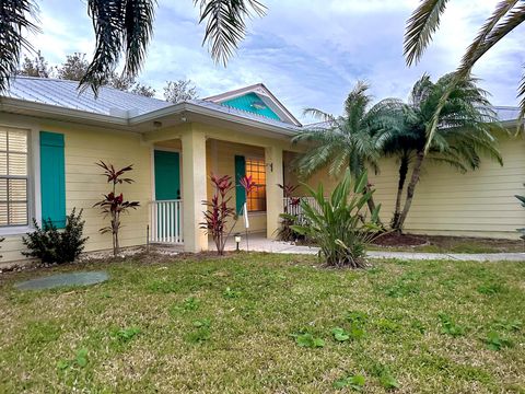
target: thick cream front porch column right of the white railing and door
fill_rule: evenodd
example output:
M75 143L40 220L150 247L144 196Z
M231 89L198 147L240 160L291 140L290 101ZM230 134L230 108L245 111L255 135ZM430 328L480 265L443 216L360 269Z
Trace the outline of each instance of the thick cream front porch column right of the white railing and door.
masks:
M206 136L189 129L182 136L183 142L183 218L184 251L208 251L208 235L200 224L205 217L202 201L207 199Z

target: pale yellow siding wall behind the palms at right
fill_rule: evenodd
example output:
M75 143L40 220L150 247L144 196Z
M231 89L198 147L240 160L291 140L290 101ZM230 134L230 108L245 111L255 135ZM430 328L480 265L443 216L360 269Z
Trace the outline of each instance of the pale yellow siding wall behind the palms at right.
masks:
M415 198L405 225L406 232L434 235L462 235L517 239L516 229L525 225L525 209L514 197L525 194L525 141L522 137L503 137L500 150L504 165L482 157L481 166L462 174L446 164L428 161L416 187ZM290 163L292 154L285 155ZM394 159L382 160L381 173L370 173L375 188L375 202L382 204L381 218L388 224L397 194L398 164ZM298 184L298 177L288 174L287 182ZM407 184L411 173L408 175ZM329 195L337 179L323 170L307 183L317 187L323 183ZM306 192L300 188L296 196ZM406 187L404 198L406 196Z

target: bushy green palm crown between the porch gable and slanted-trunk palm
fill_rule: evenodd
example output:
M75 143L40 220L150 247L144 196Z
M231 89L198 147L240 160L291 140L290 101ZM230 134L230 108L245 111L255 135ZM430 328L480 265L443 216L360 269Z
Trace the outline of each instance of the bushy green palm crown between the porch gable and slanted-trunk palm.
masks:
M382 113L383 106L370 107L368 90L366 83L357 83L345 102L343 116L336 117L315 108L305 109L305 114L313 115L322 123L292 139L293 143L313 144L294 163L302 177L308 177L324 167L328 167L331 176L349 169L353 179L358 179L366 167L378 172L378 160L383 143L388 138L387 125L390 119ZM370 188L371 185L368 185L366 192ZM371 212L378 209L373 198L368 204Z

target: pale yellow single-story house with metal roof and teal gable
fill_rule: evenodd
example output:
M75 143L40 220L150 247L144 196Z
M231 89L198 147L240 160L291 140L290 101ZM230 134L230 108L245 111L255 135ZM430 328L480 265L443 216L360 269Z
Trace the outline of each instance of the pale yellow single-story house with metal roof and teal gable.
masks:
M122 246L178 243L188 252L208 248L202 200L211 194L208 176L248 174L259 187L249 196L250 231L275 235L283 210L283 182L298 182L290 160L304 149L290 143L303 126L264 85L171 104L112 88L79 94L78 83L18 77L0 97L0 235L2 262L22 258L21 236L32 218L63 225L72 208L83 209L88 251L106 250L100 234L107 219L93 204L108 185L95 162L133 164L135 183L122 185L141 207L122 218ZM509 127L514 108L498 109ZM483 162L477 172L458 174L429 166L419 185L407 231L451 235L516 237L525 215L513 195L525 182L522 139L503 138L505 166ZM390 165L392 164L392 165ZM385 220L393 210L395 163L372 176ZM432 179L432 182L425 181ZM308 182L334 184L326 172ZM304 192L300 192L304 193ZM240 208L244 195L235 194ZM241 221L237 223L241 230ZM149 229L149 230L148 230Z

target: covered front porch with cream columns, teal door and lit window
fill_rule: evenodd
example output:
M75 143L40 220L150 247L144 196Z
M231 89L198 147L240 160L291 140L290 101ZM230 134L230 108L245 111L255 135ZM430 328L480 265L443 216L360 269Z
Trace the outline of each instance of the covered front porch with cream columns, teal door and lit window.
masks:
M152 200L150 201L149 242L178 245L186 252L210 247L201 229L202 201L214 190L211 174L230 175L236 185L230 206L240 212L244 204L238 179L253 176L256 190L248 196L248 232L266 240L275 239L279 216L287 201L278 186L287 182L289 142L232 130L189 124L172 130L159 130L145 138L151 144ZM243 233L245 220L231 219L232 234Z

